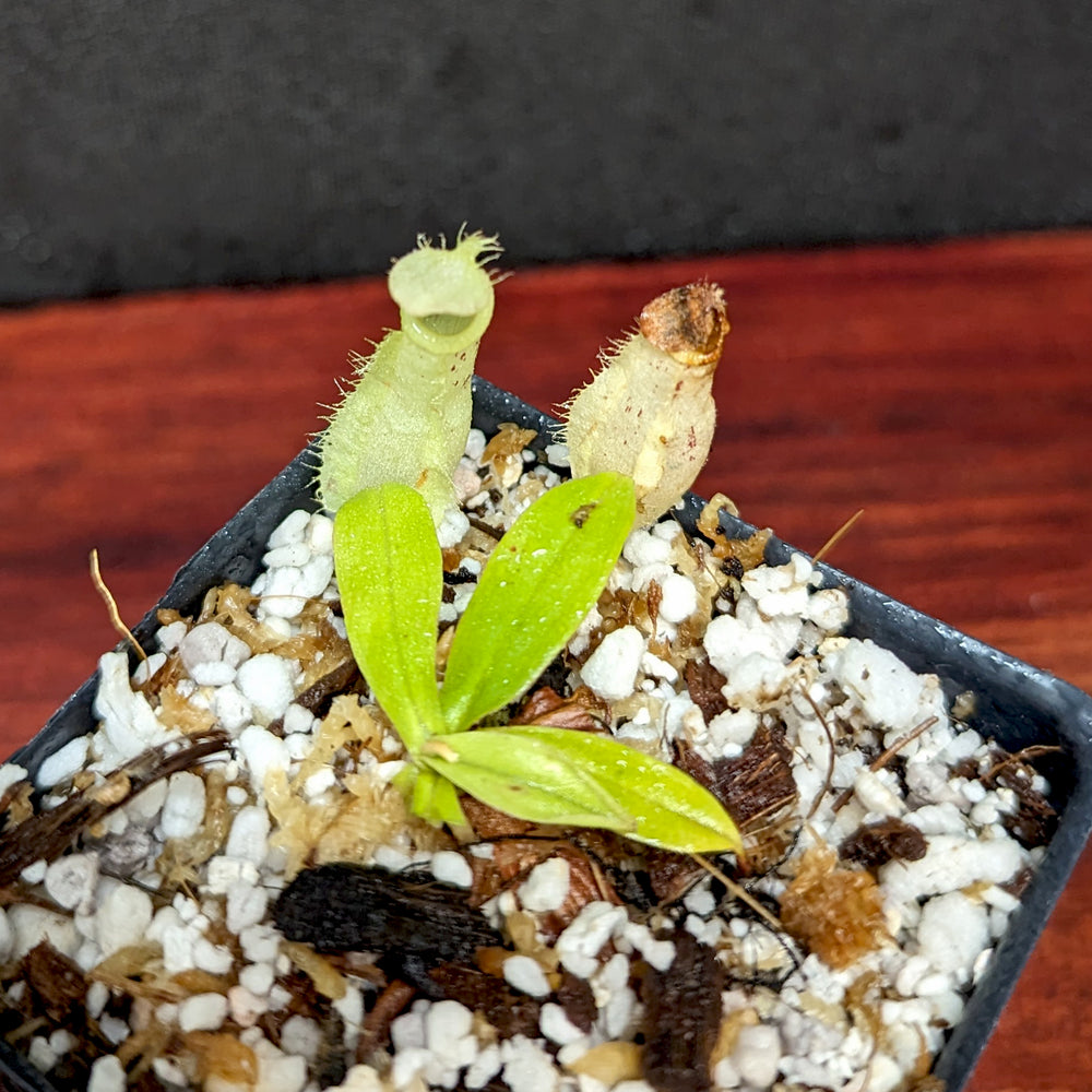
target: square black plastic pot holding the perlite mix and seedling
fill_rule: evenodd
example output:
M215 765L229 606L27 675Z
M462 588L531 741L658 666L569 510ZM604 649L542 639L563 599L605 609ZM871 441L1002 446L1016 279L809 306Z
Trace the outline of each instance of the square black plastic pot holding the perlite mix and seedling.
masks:
M482 380L475 380L474 424L487 434L501 422L514 422L539 434L546 443L555 422L532 406ZM205 592L223 583L249 584L258 575L266 539L288 512L317 509L311 492L313 451L305 449L226 526L178 571L167 593L134 632L142 643L154 634L155 612L174 607L193 613ZM692 530L702 502L692 495L681 522ZM722 515L734 537L753 532L750 524ZM780 565L792 548L770 542L767 560ZM1045 672L1013 660L966 637L845 573L820 565L828 586L850 595L847 633L871 638L890 649L915 672L940 677L949 699L964 690L977 696L972 726L993 736L1010 751L1033 744L1060 745L1063 751L1040 763L1052 786L1051 803L1059 812L1057 830L1034 879L998 943L989 969L968 1001L963 1020L952 1032L934 1072L948 1092L963 1088L975 1059L993 1031L1047 917L1065 887L1092 829L1092 698ZM63 744L94 729L92 703L97 680L88 679L54 714L49 723L12 760L32 774L43 759ZM0 1079L10 1092L55 1092L54 1085L7 1043L0 1042Z

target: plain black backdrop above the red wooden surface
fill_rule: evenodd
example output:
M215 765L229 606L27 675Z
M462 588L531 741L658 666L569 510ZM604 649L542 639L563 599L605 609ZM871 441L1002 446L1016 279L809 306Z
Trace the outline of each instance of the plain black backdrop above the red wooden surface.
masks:
M0 4L0 302L1092 222L1092 4Z

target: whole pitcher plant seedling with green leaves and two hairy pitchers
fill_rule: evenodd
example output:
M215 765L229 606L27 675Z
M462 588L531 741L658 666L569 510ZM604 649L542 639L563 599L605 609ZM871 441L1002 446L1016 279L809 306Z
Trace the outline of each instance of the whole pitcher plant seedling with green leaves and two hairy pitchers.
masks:
M691 285L650 304L642 333L574 401L569 439L578 476L548 490L497 544L438 686L442 565L434 525L455 499L451 477L470 430L471 371L492 314L492 282L482 264L499 247L478 234L461 235L452 250L419 241L388 281L402 329L360 361L360 379L321 441L318 478L319 499L335 513L349 642L408 752L402 787L413 810L463 824L462 791L535 822L606 828L681 852L740 850L715 797L678 768L609 736L548 724L467 731L526 692L595 604L634 521L650 522L693 479L708 452L708 377L726 328L720 289ZM630 376L638 365L644 370ZM669 389L680 368L680 387L697 392L687 407ZM670 403L678 419L657 405L634 448L627 436L638 395ZM682 422L690 403L700 413ZM601 418L591 429L589 414ZM621 463L596 465L610 448L621 450Z

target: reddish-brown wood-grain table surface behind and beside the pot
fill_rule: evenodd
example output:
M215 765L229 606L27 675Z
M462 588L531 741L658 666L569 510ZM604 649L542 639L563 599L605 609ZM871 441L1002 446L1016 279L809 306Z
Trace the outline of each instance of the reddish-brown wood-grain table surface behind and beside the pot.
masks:
M988 643L1092 689L1092 233L525 270L478 371L542 408L666 287L725 288L698 489ZM319 427L382 280L0 312L0 751ZM1092 856L973 1092L1092 1088Z

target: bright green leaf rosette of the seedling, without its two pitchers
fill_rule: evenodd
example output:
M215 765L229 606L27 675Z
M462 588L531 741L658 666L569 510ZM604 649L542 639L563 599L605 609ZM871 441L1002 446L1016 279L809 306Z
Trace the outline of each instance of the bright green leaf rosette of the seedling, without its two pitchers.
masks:
M590 732L475 728L525 693L575 632L633 512L633 484L622 474L574 479L539 497L490 555L437 686L442 562L424 500L392 483L339 510L345 627L405 744L412 764L403 787L418 815L465 824L461 790L533 822L604 828L684 853L741 850L717 799L677 767Z

